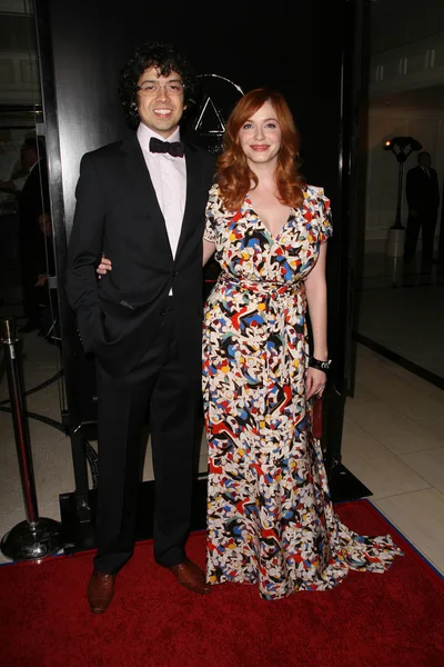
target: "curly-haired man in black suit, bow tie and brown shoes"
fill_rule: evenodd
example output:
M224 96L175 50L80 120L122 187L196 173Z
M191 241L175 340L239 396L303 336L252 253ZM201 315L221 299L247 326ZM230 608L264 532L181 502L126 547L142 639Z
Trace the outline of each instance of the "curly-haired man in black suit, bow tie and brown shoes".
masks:
M143 44L122 70L134 136L83 156L69 246L68 298L97 357L99 482L91 610L110 604L134 548L141 431L155 477L154 555L208 593L185 555L201 397L202 235L214 160L180 141L191 70L170 46ZM100 281L102 251L112 261Z

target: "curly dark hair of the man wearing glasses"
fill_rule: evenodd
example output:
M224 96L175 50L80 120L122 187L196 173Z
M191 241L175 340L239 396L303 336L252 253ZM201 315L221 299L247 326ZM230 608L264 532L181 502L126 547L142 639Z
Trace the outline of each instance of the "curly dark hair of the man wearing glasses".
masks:
M140 118L138 112L138 82L147 69L159 68L162 77L178 72L184 84L184 103L192 102L195 77L192 67L180 51L164 42L145 42L141 44L127 61L120 72L119 94L132 128L137 128Z

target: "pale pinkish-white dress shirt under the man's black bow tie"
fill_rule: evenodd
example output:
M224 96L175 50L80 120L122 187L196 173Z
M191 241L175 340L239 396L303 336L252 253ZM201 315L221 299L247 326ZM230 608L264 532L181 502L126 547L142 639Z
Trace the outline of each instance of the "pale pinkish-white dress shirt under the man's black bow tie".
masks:
M185 211L185 157L173 158L170 153L152 153L150 151L151 137L165 141L164 137L157 135L157 132L150 130L145 125L140 123L138 128L139 143L142 148L155 196L165 220L167 233L174 258L182 229L183 213ZM168 141L180 141L179 128L168 138Z

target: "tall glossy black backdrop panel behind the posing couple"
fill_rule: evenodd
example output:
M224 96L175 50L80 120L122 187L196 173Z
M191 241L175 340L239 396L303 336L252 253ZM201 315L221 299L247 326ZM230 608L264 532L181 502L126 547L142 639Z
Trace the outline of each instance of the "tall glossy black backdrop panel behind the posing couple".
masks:
M343 394L344 321L349 317L349 217L343 207L342 60L353 39L351 3L346 0L269 4L190 3L107 0L36 0L43 72L53 81L43 90L47 111L57 111L48 128L57 133L60 152L49 156L52 189L62 187L54 219L56 245L65 245L74 211L74 188L81 156L129 130L118 99L119 70L135 46L145 40L171 41L193 61L199 73L215 73L244 92L269 86L280 90L294 113L302 139L302 171L309 182L325 188L332 199L335 235L329 243L330 348L340 360L333 381ZM191 4L192 6L192 4ZM194 7L194 6L192 6ZM334 31L332 26L335 26ZM51 53L52 63L49 63ZM349 57L353 58L349 48ZM44 79L44 77L43 77ZM50 113L47 113L51 118ZM53 116L56 118L56 116ZM350 126L350 120L347 121ZM56 147L57 141L52 141ZM342 210L343 209L343 210ZM64 251L58 252L60 281ZM70 411L74 424L94 419L91 364L83 360L60 290L63 351ZM340 308L339 305L342 305ZM341 321L339 317L341 313ZM336 428L341 439L342 416Z

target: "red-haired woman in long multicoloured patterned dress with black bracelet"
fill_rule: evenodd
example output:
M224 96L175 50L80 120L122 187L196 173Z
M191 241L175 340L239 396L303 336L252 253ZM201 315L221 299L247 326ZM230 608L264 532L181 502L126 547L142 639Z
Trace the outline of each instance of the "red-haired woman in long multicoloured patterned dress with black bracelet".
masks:
M383 573L401 551L390 536L362 537L340 522L311 432L310 401L326 380L332 226L323 189L297 175L282 96L244 96L224 148L204 232L204 262L215 251L222 269L203 329L206 577L259 584L261 597L278 599L332 588L349 569Z

